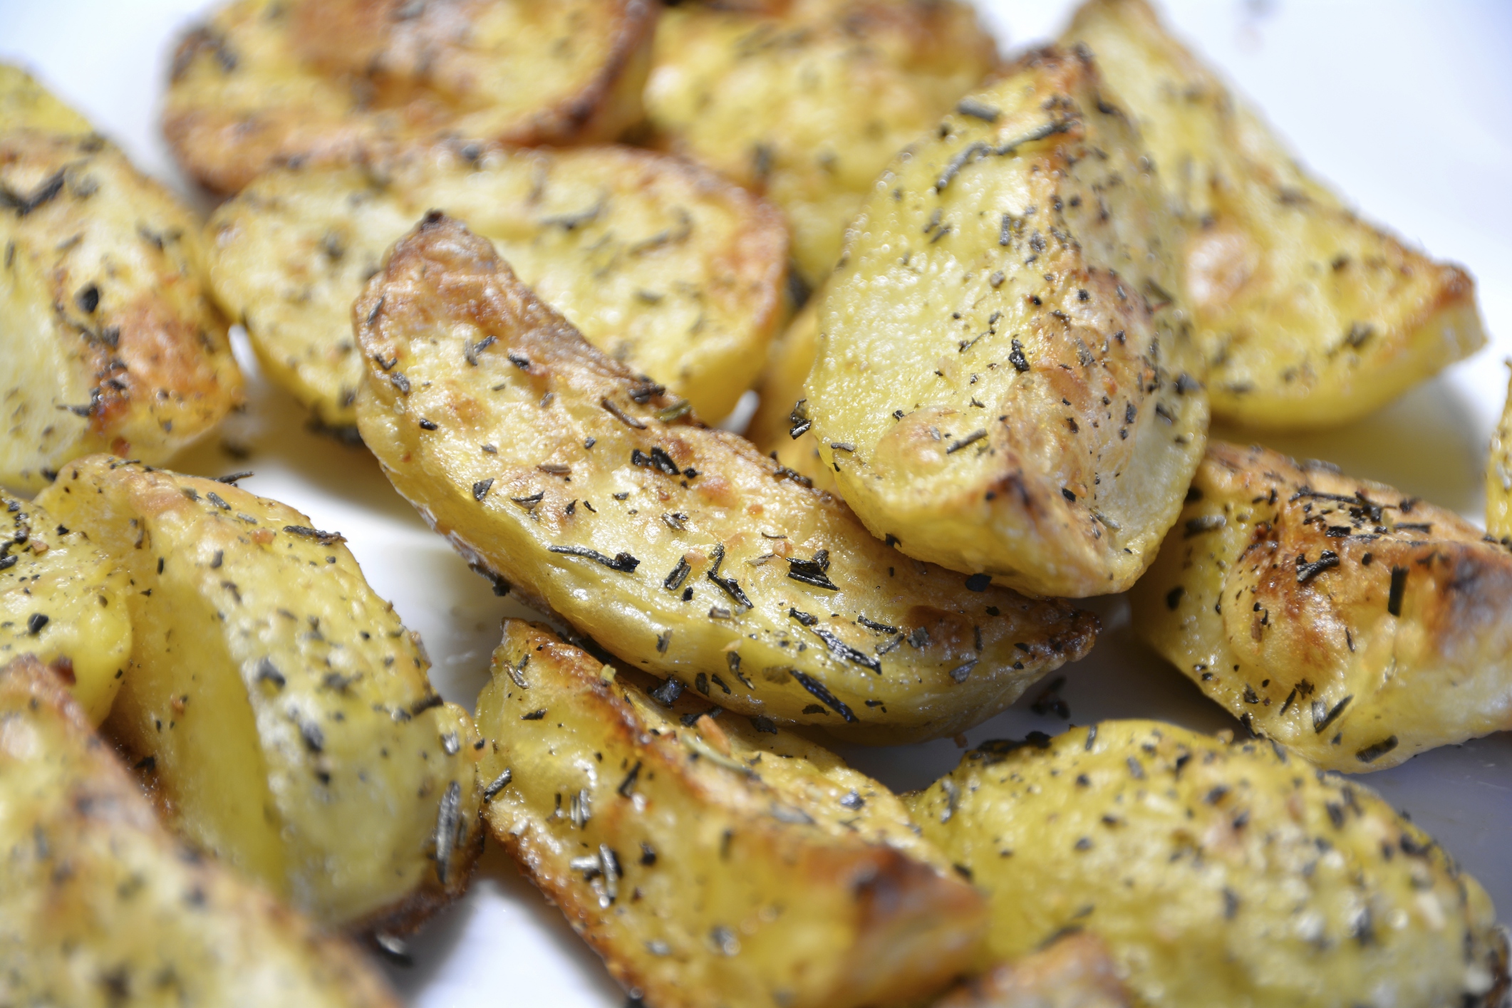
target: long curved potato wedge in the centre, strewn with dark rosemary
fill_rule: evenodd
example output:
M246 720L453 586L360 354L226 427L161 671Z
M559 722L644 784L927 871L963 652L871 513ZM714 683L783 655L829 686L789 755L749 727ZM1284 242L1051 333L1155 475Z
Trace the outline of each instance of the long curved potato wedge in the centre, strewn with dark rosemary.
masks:
M442 215L354 307L363 441L470 562L635 668L857 741L954 734L1096 618L915 564L590 346ZM833 558L833 559L832 559Z

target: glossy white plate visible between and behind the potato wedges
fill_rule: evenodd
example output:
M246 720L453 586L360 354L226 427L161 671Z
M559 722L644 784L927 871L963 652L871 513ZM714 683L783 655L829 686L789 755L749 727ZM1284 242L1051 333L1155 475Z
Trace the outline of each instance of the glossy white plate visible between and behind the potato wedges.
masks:
M194 0L0 0L0 59L30 65L150 174L184 190L157 133L168 56L206 5ZM1012 45L1051 38L1070 5L981 5ZM1485 446L1506 390L1512 352L1512 5L1169 0L1175 26L1219 65L1364 215L1476 275L1494 345L1377 416L1326 437L1270 444L1326 458L1358 476L1480 520ZM1495 339L1500 334L1501 339ZM239 348L245 364L245 342ZM248 416L227 438L251 447L243 482L346 533L380 594L425 635L432 677L472 704L505 614L446 544L431 535L366 455L307 434L304 411L251 379ZM221 475L242 468L219 444L175 465ZM1081 724L1166 718L1234 727L1181 674L1134 641L1120 598L1095 606L1107 630L1093 654L1066 669L1064 697ZM1013 709L969 733L972 744L1052 718ZM919 787L959 759L953 742L845 756L892 787ZM1506 913L1512 908L1512 736L1427 753L1365 783L1453 851ZM472 892L413 943L414 966L393 969L414 1005L546 1003L617 1008L624 996L561 916L491 849Z

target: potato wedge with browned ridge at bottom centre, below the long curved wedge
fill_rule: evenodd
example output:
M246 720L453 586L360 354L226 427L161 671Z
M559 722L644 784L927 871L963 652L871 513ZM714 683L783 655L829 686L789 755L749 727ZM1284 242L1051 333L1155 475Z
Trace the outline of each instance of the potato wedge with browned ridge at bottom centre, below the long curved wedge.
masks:
M493 836L634 997L903 1005L972 961L981 896L881 784L634 676L511 620L478 700Z

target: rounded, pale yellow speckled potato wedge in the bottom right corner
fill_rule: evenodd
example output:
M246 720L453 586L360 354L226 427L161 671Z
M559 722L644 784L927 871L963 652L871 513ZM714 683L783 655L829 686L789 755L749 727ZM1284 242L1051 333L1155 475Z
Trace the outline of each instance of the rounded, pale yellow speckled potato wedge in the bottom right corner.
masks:
M910 802L995 955L1099 934L1148 1008L1500 1005L1485 890L1374 792L1170 724L992 742Z

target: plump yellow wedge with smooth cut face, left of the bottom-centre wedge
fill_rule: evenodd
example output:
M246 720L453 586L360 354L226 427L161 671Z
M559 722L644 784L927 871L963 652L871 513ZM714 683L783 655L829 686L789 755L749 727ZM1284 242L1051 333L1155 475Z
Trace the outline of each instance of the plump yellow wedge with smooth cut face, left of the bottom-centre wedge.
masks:
M106 727L180 833L324 923L402 929L461 893L482 839L472 722L339 535L107 456L39 503L132 577Z

